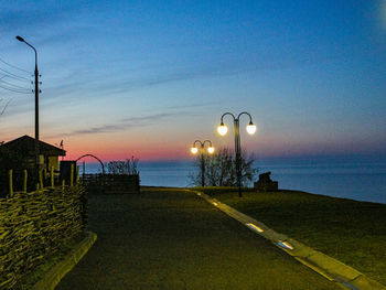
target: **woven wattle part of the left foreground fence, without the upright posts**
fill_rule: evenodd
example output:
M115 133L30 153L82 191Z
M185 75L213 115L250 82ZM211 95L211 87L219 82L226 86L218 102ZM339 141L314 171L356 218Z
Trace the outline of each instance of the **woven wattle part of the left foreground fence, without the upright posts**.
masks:
M64 249L86 224L81 184L0 198L0 289L19 289L47 255Z

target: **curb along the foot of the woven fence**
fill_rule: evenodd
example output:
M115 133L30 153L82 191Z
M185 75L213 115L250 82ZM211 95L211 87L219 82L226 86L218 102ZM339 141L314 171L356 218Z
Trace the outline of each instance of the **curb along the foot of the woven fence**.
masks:
M86 237L78 243L62 261L52 267L43 278L32 287L32 290L55 289L62 278L86 255L96 239L97 235L95 233L86 232Z

